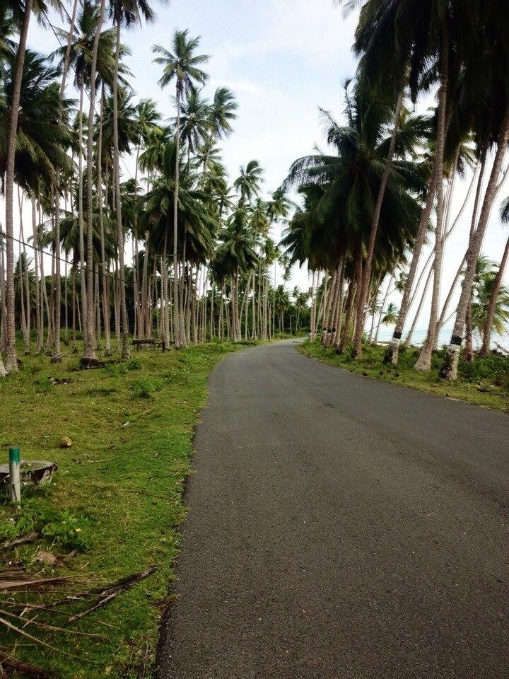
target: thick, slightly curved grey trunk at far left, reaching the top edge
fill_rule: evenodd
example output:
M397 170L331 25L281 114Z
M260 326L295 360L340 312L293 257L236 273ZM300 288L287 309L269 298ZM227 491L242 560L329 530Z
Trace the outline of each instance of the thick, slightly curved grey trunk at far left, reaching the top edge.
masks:
M25 50L32 14L33 0L25 1L25 11L16 52L16 64L14 66L13 89L11 98L11 113L9 115L7 129L7 152L6 152L6 362L5 369L8 373L18 370L18 357L16 356L16 326L14 311L14 159L16 156L16 141L18 137L18 113L21 94L21 80L23 79L23 66L25 65Z

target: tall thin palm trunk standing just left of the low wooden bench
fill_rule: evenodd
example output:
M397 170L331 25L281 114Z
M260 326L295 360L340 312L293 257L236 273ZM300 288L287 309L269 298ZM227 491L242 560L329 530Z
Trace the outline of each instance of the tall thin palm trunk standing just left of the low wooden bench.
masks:
M120 61L120 17L117 16L117 40L115 45L115 70L113 71L113 162L115 166L115 215L117 218L117 247L119 260L119 305L122 321L122 359L129 358L129 327L125 291L124 230L122 228L122 198L120 196L120 154L118 139L118 74Z

